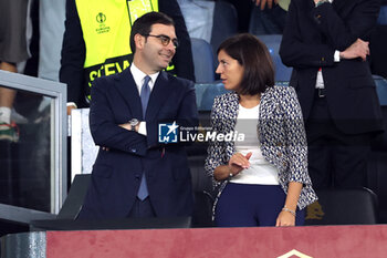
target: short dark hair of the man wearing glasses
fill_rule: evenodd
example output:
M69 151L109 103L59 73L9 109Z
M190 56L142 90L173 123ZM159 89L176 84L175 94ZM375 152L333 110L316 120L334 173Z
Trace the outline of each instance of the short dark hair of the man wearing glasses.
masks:
M135 35L147 35L150 33L153 24L175 25L174 20L163 12L148 12L138 18L132 25L130 49L132 53L136 52Z

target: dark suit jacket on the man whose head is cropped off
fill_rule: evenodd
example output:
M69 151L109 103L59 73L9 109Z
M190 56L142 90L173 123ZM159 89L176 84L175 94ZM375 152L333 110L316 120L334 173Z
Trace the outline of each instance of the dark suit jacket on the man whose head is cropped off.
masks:
M356 39L369 40L379 12L379 0L334 0L314 7L313 0L292 0L280 55L293 66L294 86L303 115L313 106L316 75L323 69L326 101L335 125L358 134L383 128L381 112L368 62L362 59L334 62Z

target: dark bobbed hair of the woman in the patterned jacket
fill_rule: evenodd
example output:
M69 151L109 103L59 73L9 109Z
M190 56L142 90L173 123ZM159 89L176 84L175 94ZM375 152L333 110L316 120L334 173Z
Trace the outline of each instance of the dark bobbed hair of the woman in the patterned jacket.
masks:
M239 94L255 95L274 85L274 65L269 50L257 37L242 33L223 41L217 53L223 50L243 66Z

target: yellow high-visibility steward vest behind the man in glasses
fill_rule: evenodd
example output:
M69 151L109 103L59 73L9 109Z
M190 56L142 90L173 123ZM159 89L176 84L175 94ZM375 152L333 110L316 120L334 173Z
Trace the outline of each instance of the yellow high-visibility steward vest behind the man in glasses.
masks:
M75 0L86 47L85 80L121 73L133 61L132 24L158 11L158 0ZM167 70L172 70L168 68Z

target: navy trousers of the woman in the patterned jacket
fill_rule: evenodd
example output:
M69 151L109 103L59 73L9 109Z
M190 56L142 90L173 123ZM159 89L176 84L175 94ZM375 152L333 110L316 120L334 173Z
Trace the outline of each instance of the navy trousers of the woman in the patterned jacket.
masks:
M286 195L279 185L229 183L216 207L218 227L275 226ZM296 210L295 225L304 225L305 211Z

